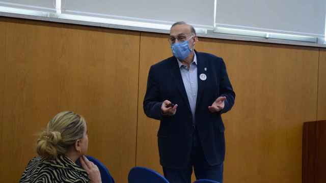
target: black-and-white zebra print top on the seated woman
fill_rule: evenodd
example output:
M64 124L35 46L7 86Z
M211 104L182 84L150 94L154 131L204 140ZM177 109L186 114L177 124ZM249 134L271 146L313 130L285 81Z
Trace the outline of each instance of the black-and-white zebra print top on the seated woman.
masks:
M69 158L61 155L56 160L46 160L42 157L33 158L22 174L21 183L42 182L89 182L87 172L72 162Z

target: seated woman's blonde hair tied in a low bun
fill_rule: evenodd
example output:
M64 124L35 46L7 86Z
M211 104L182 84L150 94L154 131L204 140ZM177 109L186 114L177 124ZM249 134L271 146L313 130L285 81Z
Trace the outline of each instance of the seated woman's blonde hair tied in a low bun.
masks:
M83 138L85 124L85 119L79 114L71 111L58 113L39 133L37 154L51 160L66 154L78 139Z

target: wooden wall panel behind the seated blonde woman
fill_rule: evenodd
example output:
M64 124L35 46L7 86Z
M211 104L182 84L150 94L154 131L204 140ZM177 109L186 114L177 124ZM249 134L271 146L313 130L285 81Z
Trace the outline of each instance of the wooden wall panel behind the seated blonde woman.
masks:
M135 165L140 33L4 17L0 22L0 32L6 30L0 181L17 182L35 156L33 134L59 111L73 110L87 120L89 154L107 165L116 182L127 182Z

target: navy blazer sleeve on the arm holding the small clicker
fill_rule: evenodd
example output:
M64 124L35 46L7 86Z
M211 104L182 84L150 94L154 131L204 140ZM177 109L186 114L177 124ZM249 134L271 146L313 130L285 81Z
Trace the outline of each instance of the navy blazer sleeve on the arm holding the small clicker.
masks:
M144 97L143 108L145 114L153 119L161 119L161 106L163 102L159 101L159 85L155 79L155 72L151 66L147 79L147 89Z

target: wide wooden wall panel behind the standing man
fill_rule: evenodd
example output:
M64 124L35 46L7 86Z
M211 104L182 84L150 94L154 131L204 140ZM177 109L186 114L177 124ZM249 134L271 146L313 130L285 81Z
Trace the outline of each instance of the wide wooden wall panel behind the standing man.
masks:
M171 56L166 39L141 35L137 165L159 172L159 121L145 116L142 101L150 65ZM213 39L196 49L224 58L237 95L223 116L225 182L301 182L303 123L316 120L318 49Z

